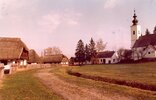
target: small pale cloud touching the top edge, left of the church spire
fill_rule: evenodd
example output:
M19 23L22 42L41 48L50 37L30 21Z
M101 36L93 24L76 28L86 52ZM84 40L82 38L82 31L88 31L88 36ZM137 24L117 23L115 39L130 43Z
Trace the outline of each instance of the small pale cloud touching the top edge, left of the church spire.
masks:
M120 0L105 0L104 8L114 8Z

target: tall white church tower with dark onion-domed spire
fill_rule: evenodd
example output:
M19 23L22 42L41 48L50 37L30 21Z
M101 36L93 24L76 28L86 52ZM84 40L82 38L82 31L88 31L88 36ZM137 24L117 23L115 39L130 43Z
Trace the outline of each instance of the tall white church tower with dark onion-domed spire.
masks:
M133 47L135 41L141 36L141 26L138 25L137 16L133 15L132 26L131 26L131 48Z

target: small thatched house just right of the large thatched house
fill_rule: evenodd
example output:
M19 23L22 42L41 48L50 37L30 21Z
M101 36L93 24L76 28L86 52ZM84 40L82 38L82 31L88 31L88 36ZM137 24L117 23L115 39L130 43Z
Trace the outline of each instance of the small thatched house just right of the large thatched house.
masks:
M29 60L28 63L32 64L32 63L40 63L40 57L39 55L36 53L36 51L34 49L29 50Z

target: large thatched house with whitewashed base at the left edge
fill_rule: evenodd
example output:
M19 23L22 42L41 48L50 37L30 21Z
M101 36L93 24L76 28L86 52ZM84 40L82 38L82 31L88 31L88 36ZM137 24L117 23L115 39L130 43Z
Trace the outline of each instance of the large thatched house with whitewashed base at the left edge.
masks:
M7 68L12 64L26 65L28 48L20 38L0 37L0 63Z

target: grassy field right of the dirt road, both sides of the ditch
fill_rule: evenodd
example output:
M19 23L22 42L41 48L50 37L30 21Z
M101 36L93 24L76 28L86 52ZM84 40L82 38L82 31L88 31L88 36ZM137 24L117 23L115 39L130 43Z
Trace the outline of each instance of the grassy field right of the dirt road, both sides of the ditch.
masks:
M81 67L61 67L51 71L62 80L65 80L69 83L74 83L78 86L94 88L101 92L107 92L108 94L117 93L119 95L132 96L138 100L156 100L156 92L154 91L146 91L122 85L75 77L67 74L68 70L80 72L87 75L131 80L156 85L156 63L85 65Z

